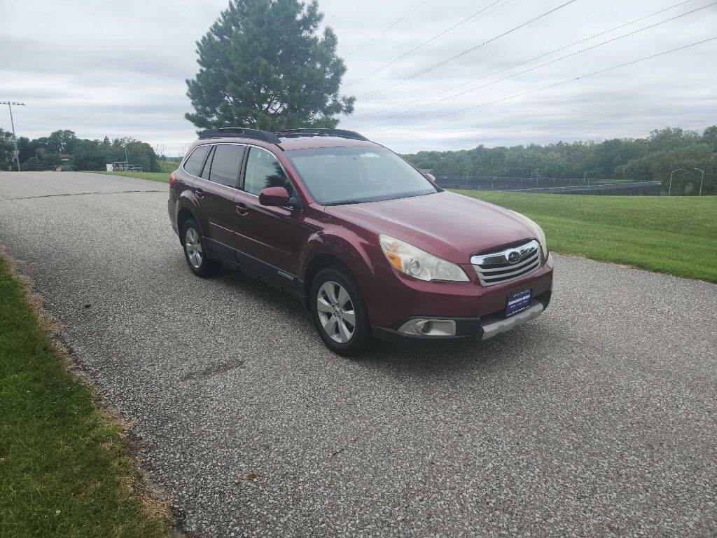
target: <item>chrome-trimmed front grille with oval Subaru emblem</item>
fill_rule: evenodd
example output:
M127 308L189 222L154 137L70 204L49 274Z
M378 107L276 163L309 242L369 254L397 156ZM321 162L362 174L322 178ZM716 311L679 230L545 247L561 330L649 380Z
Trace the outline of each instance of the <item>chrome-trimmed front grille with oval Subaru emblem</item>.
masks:
M473 256L470 263L482 285L512 282L540 267L540 243L533 240L497 253Z

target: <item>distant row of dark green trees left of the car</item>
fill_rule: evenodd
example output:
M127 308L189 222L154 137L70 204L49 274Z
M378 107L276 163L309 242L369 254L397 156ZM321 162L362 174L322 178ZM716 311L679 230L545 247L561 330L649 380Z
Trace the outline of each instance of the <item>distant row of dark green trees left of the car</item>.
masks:
M20 136L17 146L20 164L28 168L69 164L74 170L104 170L105 164L124 161L126 155L130 164L141 166L145 171L160 171L152 146L134 138L110 141L105 136L104 140L87 140L65 129L33 140ZM13 151L12 133L0 129L0 166L10 168L14 162Z

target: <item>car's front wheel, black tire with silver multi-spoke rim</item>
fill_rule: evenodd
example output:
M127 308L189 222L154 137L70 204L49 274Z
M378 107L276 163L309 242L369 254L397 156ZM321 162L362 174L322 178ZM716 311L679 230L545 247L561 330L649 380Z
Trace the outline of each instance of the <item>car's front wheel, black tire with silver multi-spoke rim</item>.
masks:
M325 284L328 288L336 291L336 293L333 294L335 298L339 296L338 288L332 287L332 283L346 291L348 302L341 305L338 304L341 301L336 301L338 310L332 308L331 313L327 313L326 303L328 302L329 306L333 306L333 301L326 301L325 298L322 303L323 311L320 313L318 303L320 298L319 293L321 291L322 296L326 297L326 288L322 290ZM364 297L361 296L359 285L356 283L356 280L353 280L353 277L348 271L338 265L332 265L331 267L320 270L311 282L311 290L309 293L311 294L309 300L314 325L328 349L331 349L331 351L343 357L355 357L369 346L371 343L369 314L366 312ZM350 315L351 310L349 310L349 308L353 308L353 317ZM328 324L328 329L325 328L325 321L326 324ZM351 324L351 321L354 321L354 323ZM337 341L336 338L345 338L351 326L353 326L353 331L351 332L350 338L347 341ZM331 336L329 330L331 330L333 336Z

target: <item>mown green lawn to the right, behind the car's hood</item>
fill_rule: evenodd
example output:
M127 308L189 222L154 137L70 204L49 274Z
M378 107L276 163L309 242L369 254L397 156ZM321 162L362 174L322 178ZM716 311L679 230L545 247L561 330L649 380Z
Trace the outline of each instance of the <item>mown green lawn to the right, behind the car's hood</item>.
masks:
M717 282L717 197L455 192L526 214L556 252Z

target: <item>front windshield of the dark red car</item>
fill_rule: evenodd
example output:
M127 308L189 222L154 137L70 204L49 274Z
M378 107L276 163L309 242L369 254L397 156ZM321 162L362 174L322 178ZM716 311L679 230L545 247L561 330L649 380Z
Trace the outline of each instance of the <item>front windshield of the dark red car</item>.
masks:
M413 166L386 148L293 149L286 155L321 205L358 204L437 192Z

